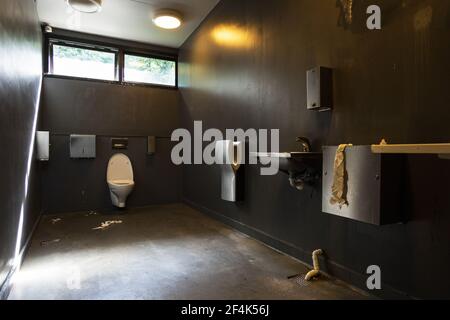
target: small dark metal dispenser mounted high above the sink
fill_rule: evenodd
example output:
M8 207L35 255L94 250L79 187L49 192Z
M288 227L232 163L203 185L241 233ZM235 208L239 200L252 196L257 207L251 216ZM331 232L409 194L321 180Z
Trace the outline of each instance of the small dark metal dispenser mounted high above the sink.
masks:
M316 67L306 72L308 110L329 111L333 108L333 70Z

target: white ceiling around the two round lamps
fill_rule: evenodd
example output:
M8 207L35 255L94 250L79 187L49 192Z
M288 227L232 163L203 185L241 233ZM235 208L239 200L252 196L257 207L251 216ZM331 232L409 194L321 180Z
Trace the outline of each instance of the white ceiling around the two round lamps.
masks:
M220 0L103 0L94 14L72 10L66 0L37 0L41 22L52 27L179 48ZM178 30L157 28L152 17L158 9L183 15Z

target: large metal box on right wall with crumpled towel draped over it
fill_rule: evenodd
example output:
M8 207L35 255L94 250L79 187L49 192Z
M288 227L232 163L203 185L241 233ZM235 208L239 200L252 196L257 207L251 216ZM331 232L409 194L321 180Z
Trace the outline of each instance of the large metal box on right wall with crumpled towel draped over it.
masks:
M340 208L330 203L336 151L337 147L323 148L322 211L374 225L404 222L405 158L374 154L370 146L348 147L348 205Z

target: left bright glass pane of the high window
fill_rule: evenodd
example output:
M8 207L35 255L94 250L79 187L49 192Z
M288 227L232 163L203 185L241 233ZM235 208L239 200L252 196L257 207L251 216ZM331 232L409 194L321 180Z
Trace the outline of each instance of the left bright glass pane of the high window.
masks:
M51 44L51 73L56 75L116 80L117 53L71 45Z

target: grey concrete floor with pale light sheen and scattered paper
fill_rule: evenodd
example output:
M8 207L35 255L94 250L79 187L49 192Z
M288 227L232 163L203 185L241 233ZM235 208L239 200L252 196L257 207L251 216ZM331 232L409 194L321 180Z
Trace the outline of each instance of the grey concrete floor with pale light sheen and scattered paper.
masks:
M52 220L60 218L60 221ZM122 220L105 230L103 221ZM58 240L55 242L43 242ZM44 216L10 299L367 299L182 204Z

